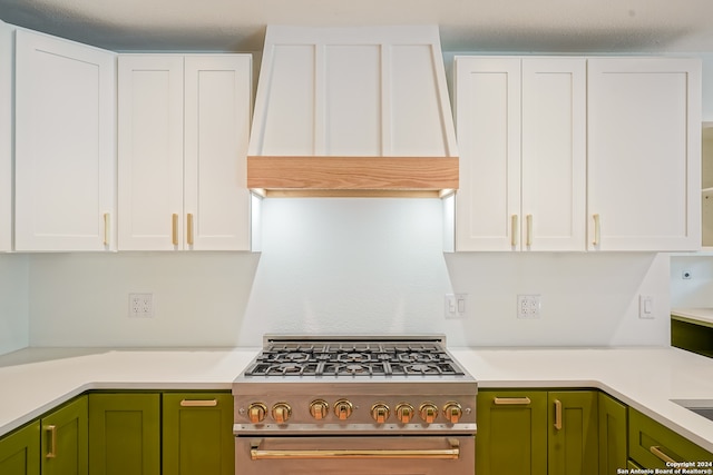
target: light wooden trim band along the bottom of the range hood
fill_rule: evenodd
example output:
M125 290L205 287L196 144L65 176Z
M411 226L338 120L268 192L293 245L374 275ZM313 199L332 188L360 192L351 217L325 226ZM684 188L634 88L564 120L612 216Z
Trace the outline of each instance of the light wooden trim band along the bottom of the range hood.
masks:
M248 156L262 196L442 197L458 189L458 157Z

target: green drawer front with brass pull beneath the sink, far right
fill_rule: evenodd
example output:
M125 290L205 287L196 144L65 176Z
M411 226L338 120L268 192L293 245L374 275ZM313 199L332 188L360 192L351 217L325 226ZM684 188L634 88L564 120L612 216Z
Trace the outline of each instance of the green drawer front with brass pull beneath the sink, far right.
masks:
M666 462L664 461L666 456L675 462L713 461L713 454L710 452L638 410L631 407L628 410L629 457L642 467L666 468Z

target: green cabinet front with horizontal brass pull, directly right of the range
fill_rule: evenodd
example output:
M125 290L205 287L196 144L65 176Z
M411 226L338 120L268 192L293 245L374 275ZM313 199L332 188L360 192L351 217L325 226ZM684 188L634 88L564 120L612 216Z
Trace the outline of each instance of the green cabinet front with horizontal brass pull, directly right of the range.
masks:
M547 392L478 393L476 473L547 474Z

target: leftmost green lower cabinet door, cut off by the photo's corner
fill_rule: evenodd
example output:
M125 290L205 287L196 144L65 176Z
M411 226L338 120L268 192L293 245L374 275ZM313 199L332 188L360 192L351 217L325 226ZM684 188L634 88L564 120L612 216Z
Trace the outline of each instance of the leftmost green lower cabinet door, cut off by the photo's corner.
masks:
M40 475L40 423L0 439L0 474Z

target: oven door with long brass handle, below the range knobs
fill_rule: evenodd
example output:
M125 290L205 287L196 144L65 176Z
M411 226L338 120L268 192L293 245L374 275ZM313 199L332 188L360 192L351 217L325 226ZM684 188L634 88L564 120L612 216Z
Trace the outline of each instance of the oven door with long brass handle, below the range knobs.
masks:
M472 475L475 436L236 437L241 475Z

